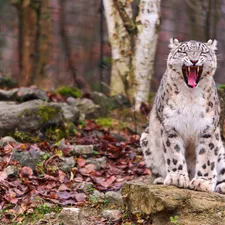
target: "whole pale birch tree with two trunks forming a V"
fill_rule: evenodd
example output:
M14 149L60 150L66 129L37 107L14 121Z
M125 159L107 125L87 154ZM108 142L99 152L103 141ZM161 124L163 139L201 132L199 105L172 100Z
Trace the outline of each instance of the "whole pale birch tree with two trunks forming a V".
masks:
M103 0L112 48L111 94L126 94L140 109L149 98L160 22L160 0Z

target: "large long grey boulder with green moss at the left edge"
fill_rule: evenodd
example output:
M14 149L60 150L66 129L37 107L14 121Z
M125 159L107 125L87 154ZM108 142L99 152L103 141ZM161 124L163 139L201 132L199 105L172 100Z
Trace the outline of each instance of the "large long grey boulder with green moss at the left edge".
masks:
M17 104L0 102L0 136L19 131L34 132L40 130L48 121L63 121L62 110L42 100L33 100Z

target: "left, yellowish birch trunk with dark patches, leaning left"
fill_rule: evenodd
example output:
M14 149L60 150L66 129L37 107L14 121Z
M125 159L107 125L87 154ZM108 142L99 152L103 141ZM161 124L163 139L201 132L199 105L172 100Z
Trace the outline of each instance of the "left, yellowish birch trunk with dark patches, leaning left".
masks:
M126 0L122 0L125 3ZM131 37L113 0L103 0L108 26L109 40L112 48L111 95L126 94L131 67ZM132 18L131 5L127 4L126 13Z

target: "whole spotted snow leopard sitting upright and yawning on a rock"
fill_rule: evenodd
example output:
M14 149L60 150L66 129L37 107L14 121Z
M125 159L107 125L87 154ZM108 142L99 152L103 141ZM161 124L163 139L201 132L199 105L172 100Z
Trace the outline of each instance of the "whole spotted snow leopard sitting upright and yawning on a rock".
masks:
M167 69L141 134L155 184L225 193L225 151L214 74L217 41L171 39Z

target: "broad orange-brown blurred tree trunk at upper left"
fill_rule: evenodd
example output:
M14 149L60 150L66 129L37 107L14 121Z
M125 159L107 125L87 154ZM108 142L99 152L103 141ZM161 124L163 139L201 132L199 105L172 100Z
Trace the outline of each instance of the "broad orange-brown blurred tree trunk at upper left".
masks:
M10 2L19 16L19 84L42 86L50 52L49 0Z

